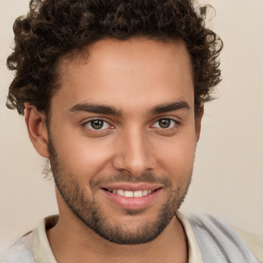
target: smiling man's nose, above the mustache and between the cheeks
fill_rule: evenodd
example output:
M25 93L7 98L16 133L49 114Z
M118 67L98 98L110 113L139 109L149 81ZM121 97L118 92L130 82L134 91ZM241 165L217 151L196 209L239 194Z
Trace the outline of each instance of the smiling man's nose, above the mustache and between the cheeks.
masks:
M140 130L123 133L117 145L118 149L113 161L116 170L138 177L143 172L151 172L156 167L153 145Z

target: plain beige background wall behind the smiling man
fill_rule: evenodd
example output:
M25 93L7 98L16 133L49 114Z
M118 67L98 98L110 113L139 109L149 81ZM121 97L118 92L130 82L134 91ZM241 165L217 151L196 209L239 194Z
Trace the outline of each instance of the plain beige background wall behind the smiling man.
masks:
M12 73L14 18L29 0L0 0L0 252L57 213L53 182L43 179L23 117L5 107ZM209 24L224 41L220 99L206 105L193 183L181 211L203 211L263 236L263 1L207 0ZM212 12L213 14L213 12Z

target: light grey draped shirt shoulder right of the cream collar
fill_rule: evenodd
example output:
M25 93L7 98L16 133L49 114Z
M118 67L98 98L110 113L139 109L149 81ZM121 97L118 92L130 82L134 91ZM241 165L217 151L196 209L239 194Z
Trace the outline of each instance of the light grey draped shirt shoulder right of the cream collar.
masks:
M189 217L204 262L263 262L263 238L212 215ZM206 260L205 260L206 259Z

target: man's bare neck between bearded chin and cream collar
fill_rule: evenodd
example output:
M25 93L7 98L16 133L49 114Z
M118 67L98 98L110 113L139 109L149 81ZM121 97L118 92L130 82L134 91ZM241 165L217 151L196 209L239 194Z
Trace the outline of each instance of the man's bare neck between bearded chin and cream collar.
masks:
M119 245L109 242L80 220L76 225L63 220L63 217L60 217L55 227L47 231L47 236L58 263L82 263L87 262L87 259L92 259L94 263L187 262L187 239L176 217L156 239L140 245Z

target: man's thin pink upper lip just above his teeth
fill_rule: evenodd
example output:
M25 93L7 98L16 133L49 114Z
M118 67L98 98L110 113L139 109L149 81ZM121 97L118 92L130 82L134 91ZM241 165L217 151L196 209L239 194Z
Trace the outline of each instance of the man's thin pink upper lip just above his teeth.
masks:
M122 189L124 191L140 191L140 190L156 190L161 188L161 184L152 184L152 183L111 183L107 185L102 185L101 188L105 189Z

